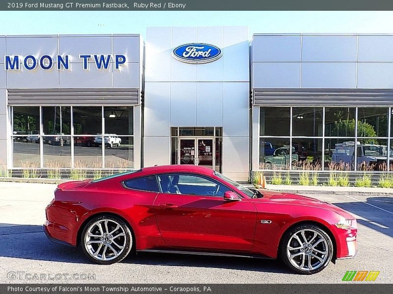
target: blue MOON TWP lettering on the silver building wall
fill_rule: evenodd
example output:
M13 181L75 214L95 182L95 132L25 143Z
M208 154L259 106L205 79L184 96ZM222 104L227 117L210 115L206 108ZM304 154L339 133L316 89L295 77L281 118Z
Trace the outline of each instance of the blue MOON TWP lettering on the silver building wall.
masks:
M5 71L20 71L26 69L34 71L38 68L44 71L50 71L56 67L57 70L70 70L71 55L4 55L4 70ZM72 61L76 62L76 61ZM108 70L109 66L114 63L116 70L120 69L126 62L126 57L121 54L80 54L79 62L82 62L84 70L89 70L89 64L93 63L97 70Z

